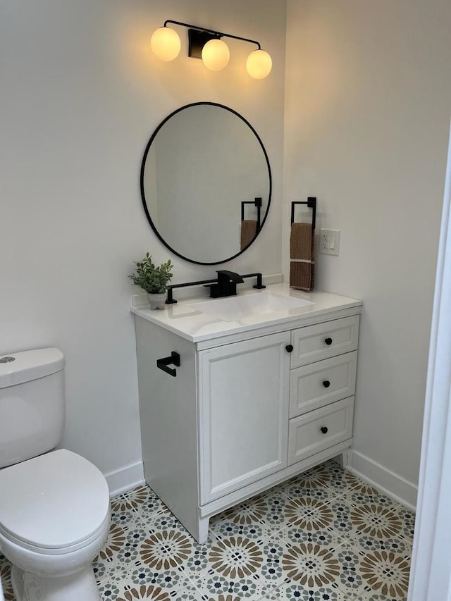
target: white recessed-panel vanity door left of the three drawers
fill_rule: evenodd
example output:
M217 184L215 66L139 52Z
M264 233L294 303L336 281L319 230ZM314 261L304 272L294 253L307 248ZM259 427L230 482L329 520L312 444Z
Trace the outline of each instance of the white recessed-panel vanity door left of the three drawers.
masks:
M201 504L287 466L290 333L199 352Z

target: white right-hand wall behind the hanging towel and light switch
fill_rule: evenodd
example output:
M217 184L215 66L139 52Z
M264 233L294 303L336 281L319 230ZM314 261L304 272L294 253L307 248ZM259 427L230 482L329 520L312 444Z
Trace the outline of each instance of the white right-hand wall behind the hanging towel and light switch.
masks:
M316 282L364 300L354 467L411 503L445 181L450 30L449 0L288 1L283 223L290 200L316 196L318 228L341 230L340 256L317 256Z

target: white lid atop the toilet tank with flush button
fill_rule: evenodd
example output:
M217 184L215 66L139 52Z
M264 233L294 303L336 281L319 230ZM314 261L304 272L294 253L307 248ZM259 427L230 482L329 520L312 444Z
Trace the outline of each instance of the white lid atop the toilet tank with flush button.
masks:
M13 360L5 361L6 357ZM2 355L0 357L0 388L15 386L61 371L64 368L63 353L54 347L32 349Z

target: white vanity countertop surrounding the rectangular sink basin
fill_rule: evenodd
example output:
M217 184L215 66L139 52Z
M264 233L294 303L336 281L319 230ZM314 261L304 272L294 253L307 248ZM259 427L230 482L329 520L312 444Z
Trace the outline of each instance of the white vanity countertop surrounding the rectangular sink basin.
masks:
M287 283L270 284L264 290L254 290L254 288L240 290L238 296L258 295L261 292L275 292L286 297L304 299L312 304L266 314L242 316L235 321L225 321L218 316L204 314L192 307L193 304L199 302L211 302L211 299L205 296L179 300L177 304L166 305L163 311L158 309L151 311L149 305L132 306L130 311L161 326L161 328L190 340L190 342L200 342L219 336L257 330L265 326L299 322L299 319L302 320L304 317L321 316L333 311L351 309L362 305L362 301L358 299L333 295L330 292L292 290Z

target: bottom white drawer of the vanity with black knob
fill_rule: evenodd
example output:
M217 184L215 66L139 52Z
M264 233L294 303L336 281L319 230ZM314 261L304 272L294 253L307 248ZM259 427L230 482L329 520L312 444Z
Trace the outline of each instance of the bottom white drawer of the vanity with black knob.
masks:
M288 465L351 438L353 411L354 397L349 397L290 419Z

